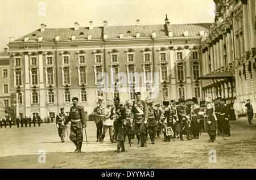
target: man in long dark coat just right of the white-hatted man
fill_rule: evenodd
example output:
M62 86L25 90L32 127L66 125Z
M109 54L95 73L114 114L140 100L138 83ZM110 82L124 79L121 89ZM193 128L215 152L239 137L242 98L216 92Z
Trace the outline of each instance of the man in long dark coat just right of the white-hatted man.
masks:
M229 110L228 105L226 105L226 100L224 98L222 98L221 101L223 104L223 108L221 110L223 136L230 136L230 125L229 125L230 110Z

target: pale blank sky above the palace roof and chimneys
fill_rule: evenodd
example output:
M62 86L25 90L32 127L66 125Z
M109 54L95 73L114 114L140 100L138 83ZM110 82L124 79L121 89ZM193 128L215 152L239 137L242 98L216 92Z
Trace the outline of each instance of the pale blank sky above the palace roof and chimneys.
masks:
M39 3L46 4L46 16L39 16ZM213 23L209 14L213 0L0 0L0 52L9 37L22 37L40 28L164 24L166 14L171 24Z

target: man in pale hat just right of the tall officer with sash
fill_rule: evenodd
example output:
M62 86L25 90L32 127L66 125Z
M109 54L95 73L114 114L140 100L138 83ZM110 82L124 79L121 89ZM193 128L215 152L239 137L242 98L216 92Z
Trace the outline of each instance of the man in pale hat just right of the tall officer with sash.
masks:
M153 108L153 101L151 98L149 98L148 100L146 100L147 102L147 113L148 113L148 117L147 117L147 131L148 134L150 135L150 140L151 140L151 144L155 144L155 133L157 130L156 127L156 117L155 116L155 110Z

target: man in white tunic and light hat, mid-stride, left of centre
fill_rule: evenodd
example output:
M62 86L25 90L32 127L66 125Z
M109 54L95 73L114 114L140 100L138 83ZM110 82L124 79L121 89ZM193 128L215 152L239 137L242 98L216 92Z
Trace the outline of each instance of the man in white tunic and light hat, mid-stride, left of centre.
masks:
M102 136L101 136L101 143L104 141L105 138L105 133L106 131L108 131L109 129L109 136L110 136L110 142L114 143L114 121L113 119L110 119L110 115L111 115L111 109L112 109L112 105L110 104L110 102L108 102L104 115L104 121L103 121L103 132L102 132Z

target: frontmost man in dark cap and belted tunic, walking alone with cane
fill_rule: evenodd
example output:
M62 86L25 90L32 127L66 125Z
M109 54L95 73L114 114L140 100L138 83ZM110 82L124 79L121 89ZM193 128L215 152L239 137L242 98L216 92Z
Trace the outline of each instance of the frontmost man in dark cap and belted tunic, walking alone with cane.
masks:
M75 152L81 152L82 148L82 128L86 127L86 114L84 112L84 106L77 105L78 98L73 97L72 102L73 106L70 108L70 113L65 120L64 125L67 125L71 121L70 135L69 139L76 145Z

